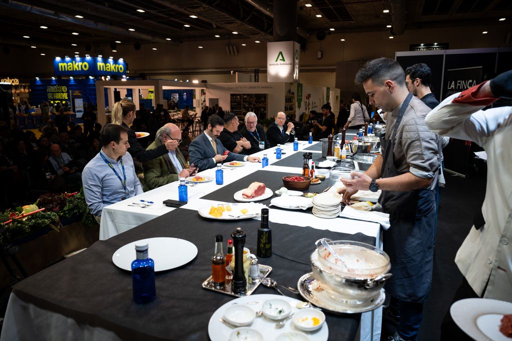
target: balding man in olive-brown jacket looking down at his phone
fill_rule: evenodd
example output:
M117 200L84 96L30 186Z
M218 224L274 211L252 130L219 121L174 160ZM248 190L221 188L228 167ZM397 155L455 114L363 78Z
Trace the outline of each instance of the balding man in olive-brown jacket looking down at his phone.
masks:
M174 123L167 123L162 126L156 134L155 141L146 150L153 150L160 145L165 145L167 140L181 142L181 132ZM179 178L186 178L197 173L194 165L185 167L185 158L179 148L169 150L167 154L156 157L142 163L144 167L144 180L148 189L154 189L165 184L177 181Z

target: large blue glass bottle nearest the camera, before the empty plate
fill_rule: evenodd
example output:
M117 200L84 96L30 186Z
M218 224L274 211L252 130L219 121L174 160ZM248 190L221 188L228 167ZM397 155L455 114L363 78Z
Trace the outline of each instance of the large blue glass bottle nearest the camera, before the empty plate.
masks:
M135 245L137 259L132 262L133 300L148 303L155 299L155 262L148 255L148 244Z

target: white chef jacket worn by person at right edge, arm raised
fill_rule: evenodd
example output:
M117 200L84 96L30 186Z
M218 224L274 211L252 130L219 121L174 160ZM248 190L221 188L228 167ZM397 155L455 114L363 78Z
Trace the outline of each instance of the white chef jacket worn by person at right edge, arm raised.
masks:
M455 263L484 297L512 302L512 107L482 111L483 106L443 100L425 118L438 135L471 140L487 153L487 188L482 205L485 225L472 228Z

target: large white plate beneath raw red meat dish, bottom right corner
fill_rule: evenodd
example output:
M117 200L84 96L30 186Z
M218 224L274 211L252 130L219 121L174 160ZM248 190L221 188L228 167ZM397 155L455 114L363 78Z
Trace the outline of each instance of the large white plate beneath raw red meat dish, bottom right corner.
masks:
M512 303L489 299L465 299L452 304L450 314L457 326L467 335L476 340L488 341L490 338L477 325L478 318L488 314L512 314Z

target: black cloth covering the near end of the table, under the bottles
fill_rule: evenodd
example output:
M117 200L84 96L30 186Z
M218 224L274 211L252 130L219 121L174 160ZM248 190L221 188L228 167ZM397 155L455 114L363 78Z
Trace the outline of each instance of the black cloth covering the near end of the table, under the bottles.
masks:
M96 242L16 284L13 293L29 304L71 317L79 325L105 328L123 339L207 340L211 314L233 299L201 288L211 272L214 236L221 233L226 242L236 227L242 227L247 234L246 246L254 251L259 223L209 221L199 217L197 211L179 208L109 240ZM311 271L309 255L319 238L375 244L375 238L361 233L346 235L284 224L271 227L274 254L260 262L272 266L272 278L286 286L295 287L300 276ZM157 273L156 300L138 305L132 299L131 273L117 268L112 263L112 254L127 243L152 237L185 239L199 251L187 265ZM262 293L276 292L262 286L255 291ZM290 296L301 299L300 295ZM354 339L360 314L326 316L329 340Z

